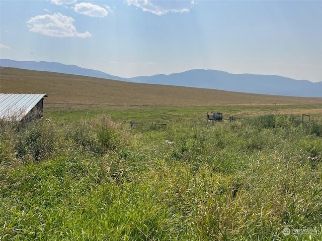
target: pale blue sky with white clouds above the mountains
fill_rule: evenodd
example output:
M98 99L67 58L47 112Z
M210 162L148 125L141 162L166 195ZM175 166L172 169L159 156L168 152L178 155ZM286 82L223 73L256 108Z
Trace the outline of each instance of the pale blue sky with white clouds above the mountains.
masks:
M0 0L0 58L322 81L322 1Z

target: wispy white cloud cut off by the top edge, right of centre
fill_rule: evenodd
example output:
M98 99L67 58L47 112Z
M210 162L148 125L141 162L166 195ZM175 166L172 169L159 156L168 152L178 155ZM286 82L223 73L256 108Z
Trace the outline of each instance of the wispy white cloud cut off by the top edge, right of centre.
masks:
M143 12L162 16L168 13L189 12L195 1L152 1L152 0L126 0L128 5L134 5L142 9Z

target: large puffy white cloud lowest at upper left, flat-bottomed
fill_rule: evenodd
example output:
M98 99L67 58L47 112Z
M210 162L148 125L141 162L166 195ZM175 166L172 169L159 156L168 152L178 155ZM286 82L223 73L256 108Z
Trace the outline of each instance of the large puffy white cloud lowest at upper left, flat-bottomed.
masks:
M51 37L92 37L89 32L83 34L77 33L73 22L73 18L58 13L36 16L31 18L27 24L30 27L30 32L40 33Z

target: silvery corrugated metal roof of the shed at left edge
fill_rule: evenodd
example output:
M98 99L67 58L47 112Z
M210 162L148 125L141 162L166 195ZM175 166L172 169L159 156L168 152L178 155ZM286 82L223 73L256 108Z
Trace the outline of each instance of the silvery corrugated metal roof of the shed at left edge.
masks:
M0 93L0 119L20 122L45 95Z

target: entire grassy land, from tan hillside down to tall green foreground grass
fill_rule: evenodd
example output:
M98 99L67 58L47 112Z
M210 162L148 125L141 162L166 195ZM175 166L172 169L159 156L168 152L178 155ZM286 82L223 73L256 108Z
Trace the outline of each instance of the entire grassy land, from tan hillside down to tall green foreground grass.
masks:
M0 123L1 241L322 240L321 98L273 96L272 105L230 92L235 102L225 102L224 91L179 88L195 92L175 103L170 86L137 85L157 104L139 87L118 104L127 84L90 78L122 88L100 102L96 91L109 91L89 87L82 101L76 80L88 77L68 76L68 92L66 75L9 70L1 92L49 96L43 119ZM206 125L207 111L224 121Z

